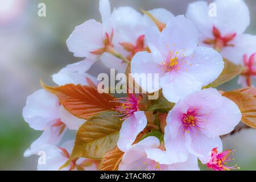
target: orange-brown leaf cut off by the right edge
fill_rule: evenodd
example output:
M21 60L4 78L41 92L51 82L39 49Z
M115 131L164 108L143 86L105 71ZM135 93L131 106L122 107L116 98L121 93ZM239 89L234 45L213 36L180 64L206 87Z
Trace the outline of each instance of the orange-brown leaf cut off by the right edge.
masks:
M235 102L242 113L242 122L256 129L256 98L245 92L225 92L222 94Z

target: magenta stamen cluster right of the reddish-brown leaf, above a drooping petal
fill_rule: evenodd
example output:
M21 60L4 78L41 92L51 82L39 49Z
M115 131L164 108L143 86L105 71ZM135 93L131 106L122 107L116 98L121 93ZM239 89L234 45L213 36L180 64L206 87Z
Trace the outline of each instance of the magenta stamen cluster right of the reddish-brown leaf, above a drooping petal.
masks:
M121 115L117 115L118 117L123 117L123 119L130 118L139 110L139 101L141 100L142 96L140 94L138 96L128 94L128 97L115 98L113 102L121 103L121 105L115 107L113 110L121 113Z

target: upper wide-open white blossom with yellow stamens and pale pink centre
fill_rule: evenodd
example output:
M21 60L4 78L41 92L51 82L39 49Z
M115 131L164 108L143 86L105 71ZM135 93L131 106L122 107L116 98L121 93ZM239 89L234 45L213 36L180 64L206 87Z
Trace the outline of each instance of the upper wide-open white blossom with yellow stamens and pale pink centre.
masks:
M150 28L146 39L151 53L138 52L131 61L131 73L159 74L160 85L154 88L148 88L148 81L141 82L134 78L149 93L163 88L163 95L170 102L177 102L210 84L224 68L224 61L218 52L196 46L197 30L184 16L172 18L162 32L156 27Z

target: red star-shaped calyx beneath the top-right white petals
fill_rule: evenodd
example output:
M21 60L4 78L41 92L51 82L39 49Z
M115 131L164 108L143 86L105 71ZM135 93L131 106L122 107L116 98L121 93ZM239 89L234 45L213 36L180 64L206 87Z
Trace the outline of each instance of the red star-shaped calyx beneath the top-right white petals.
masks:
M214 36L214 39L205 39L204 43L209 45L213 44L214 49L216 49L217 51L220 52L221 49L226 46L234 46L233 44L229 44L229 42L236 38L236 33L222 36L220 30L213 26L212 34Z

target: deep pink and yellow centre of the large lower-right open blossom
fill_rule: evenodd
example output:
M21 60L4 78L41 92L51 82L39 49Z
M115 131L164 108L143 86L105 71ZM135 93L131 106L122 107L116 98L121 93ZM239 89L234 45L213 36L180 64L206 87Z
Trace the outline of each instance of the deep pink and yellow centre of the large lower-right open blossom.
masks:
M194 133L195 129L203 129L200 126L201 123L205 122L204 119L200 118L202 115L204 114L200 114L199 109L189 109L187 113L184 113L181 119L184 133Z

